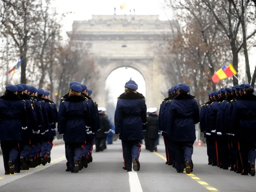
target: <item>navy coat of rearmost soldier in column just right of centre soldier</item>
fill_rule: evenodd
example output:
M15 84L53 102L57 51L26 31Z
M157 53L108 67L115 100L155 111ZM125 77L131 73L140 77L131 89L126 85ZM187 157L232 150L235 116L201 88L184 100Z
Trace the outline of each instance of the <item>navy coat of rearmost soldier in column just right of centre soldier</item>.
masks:
M171 101L167 135L172 141L195 141L195 124L199 123L199 108L194 96L179 94Z

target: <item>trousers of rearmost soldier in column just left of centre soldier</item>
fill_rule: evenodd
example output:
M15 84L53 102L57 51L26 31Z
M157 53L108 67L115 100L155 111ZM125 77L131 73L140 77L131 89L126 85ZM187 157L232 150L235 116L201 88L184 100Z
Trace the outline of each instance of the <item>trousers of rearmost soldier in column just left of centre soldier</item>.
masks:
M70 167L74 167L74 160L81 160L84 142L67 142L68 147L68 163Z

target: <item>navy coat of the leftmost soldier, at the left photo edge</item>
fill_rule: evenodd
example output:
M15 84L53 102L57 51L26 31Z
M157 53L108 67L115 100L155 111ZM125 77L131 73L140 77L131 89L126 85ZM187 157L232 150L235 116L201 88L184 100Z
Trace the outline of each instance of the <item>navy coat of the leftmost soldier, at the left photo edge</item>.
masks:
M0 140L21 140L22 127L27 126L25 101L8 92L0 97Z

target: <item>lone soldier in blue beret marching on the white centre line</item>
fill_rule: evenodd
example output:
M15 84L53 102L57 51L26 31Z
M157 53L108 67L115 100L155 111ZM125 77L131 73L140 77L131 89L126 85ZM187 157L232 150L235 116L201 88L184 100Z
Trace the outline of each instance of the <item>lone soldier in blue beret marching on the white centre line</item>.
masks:
M124 163L127 172L140 170L141 140L143 130L147 129L147 106L145 97L137 94L138 85L133 81L124 86L125 92L120 95L115 112L116 134L122 140Z

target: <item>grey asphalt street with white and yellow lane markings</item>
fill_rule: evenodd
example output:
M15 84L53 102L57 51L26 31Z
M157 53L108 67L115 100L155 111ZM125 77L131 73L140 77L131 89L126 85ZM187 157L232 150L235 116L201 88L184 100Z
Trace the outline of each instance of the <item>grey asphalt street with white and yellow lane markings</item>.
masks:
M121 142L108 145L104 152L92 153L93 162L78 173L65 172L64 145L52 149L52 163L14 175L4 175L0 158L0 192L255 192L256 177L242 176L207 165L205 147L195 147L193 174L177 173L165 164L163 140L158 152L142 146L138 173L122 169Z

